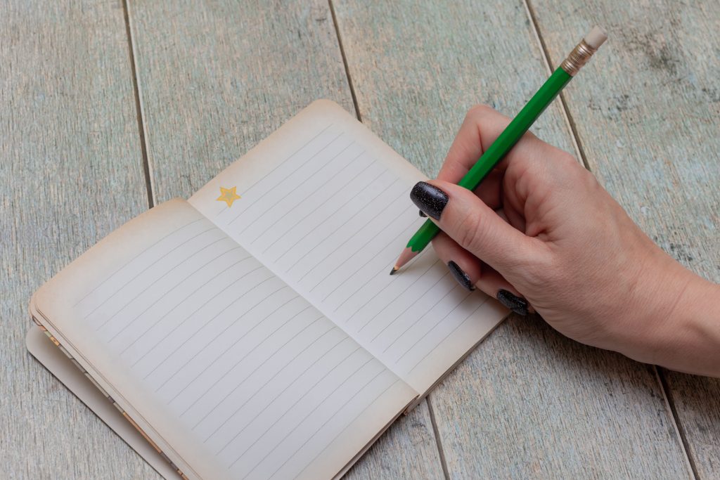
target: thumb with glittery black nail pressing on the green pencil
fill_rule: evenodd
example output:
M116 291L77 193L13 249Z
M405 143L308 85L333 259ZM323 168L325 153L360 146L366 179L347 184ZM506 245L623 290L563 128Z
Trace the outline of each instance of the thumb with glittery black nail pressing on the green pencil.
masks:
M525 266L537 245L472 191L446 181L420 181L410 199L462 248L503 275Z

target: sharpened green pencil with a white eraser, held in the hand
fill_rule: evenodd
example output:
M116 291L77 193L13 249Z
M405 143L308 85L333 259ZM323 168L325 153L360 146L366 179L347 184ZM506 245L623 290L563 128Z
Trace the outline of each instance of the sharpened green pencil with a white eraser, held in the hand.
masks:
M570 55L567 55L567 58L552 73L550 78L543 83L543 86L508 124L508 127L503 130L495 142L492 142L492 145L485 150L485 153L458 182L458 185L469 190L476 189L607 38L608 35L603 29L593 27L593 30L590 30L590 33L585 35L585 38L577 44ZM408 246L400 253L400 257L397 258L390 275L415 258L415 255L418 255L423 248L426 248L438 232L440 232L440 228L428 219L410 238Z

